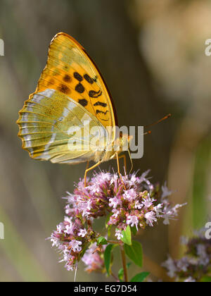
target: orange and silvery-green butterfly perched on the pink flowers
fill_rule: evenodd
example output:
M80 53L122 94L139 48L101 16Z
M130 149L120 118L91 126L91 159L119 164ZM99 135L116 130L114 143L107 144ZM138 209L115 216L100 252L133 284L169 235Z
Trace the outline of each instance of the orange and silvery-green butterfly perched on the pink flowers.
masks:
M25 101L17 121L23 149L32 159L52 163L99 164L117 159L132 137L117 135L117 116L103 77L87 51L63 32L51 40L37 89ZM92 132L91 132L92 130ZM93 132L94 130L94 132ZM129 148L128 148L129 152ZM121 178L121 174L120 174Z

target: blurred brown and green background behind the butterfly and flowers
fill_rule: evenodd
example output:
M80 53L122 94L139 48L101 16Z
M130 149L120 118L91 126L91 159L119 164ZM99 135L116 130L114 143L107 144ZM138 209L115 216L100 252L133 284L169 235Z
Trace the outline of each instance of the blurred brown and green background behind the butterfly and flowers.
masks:
M63 221L61 197L72 192L84 164L30 159L15 123L35 90L49 42L61 31L96 61L120 125L148 125L173 114L145 137L143 159L134 161L135 170L151 168L153 181L167 180L175 203L188 202L170 227L159 225L138 238L146 254L143 270L166 279L160 263L167 254L179 257L180 235L204 226L211 209L211 57L205 56L210 16L210 0L0 0L5 44L0 56L1 281L72 281L74 276L58 264L45 239ZM116 165L101 168L111 166ZM77 280L112 280L83 268Z

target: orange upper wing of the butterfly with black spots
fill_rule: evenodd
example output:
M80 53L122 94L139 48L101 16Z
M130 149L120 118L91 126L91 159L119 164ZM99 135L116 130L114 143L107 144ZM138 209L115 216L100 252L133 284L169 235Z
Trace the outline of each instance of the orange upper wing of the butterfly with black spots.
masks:
M117 124L115 108L101 73L85 49L63 32L51 41L36 92L46 89L67 94L96 116L105 128Z

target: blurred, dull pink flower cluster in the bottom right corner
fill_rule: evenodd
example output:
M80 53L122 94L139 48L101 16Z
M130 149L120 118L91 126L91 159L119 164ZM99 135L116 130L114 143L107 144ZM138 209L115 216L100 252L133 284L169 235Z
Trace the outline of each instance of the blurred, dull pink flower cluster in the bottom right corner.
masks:
M184 282L200 282L210 276L211 240L205 238L205 231L202 229L196 232L190 239L182 238L181 243L186 246L185 256L179 260L168 257L162 264L168 276Z

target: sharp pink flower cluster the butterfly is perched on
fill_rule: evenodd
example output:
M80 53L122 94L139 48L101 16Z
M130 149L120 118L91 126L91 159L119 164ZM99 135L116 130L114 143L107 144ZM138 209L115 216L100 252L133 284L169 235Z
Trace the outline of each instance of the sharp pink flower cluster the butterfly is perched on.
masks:
M61 261L65 261L68 270L74 269L82 257L87 270L102 268L101 252L94 252L96 246L92 245L100 236L92 228L94 218L107 216L107 226L115 227L115 236L120 240L127 226L137 231L153 227L160 219L168 224L170 218L177 216L181 205L172 206L167 199L172 192L166 185L161 188L153 185L148 173L141 177L135 173L122 176L123 185L116 173L101 172L91 178L87 187L81 180L73 194L68 192L65 219L51 235L52 244L62 253Z

